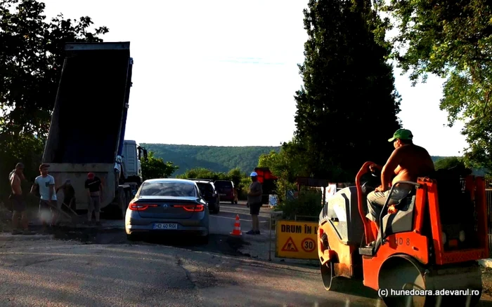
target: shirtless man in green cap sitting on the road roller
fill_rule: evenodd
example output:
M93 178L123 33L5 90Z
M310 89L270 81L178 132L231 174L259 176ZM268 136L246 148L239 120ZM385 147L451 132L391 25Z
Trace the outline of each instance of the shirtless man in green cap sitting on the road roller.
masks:
M391 153L387 163L380 165L370 165L370 170L375 168L381 170L381 185L373 192L368 194L368 214L366 217L375 221L377 228L382 206L386 202L391 186L396 182L410 181L416 182L417 177L429 175L434 172L434 162L424 148L413 144L413 135L410 130L399 129L394 132L393 137L388 142L393 142L394 151ZM391 177L393 177L391 181ZM404 198L412 189L412 186L399 184L393 189L389 200L388 213L396 212L394 205Z

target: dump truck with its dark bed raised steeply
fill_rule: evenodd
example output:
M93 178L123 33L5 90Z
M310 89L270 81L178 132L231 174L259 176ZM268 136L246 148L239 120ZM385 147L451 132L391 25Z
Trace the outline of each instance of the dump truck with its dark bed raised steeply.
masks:
M125 182L119 175L124 169L122 152L132 67L129 42L65 45L42 161L50 165L56 186L71 180L76 210L88 208L85 180L89 172L103 182L101 209L117 209L122 218L132 198L132 186L138 185ZM139 161L133 163L140 165ZM62 198L58 199L60 207Z

